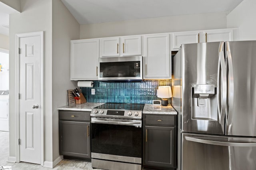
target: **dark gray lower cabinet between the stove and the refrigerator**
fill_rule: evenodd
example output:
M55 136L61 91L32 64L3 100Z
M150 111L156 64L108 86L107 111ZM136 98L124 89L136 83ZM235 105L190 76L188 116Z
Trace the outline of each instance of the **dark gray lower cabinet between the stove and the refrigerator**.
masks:
M175 170L176 115L143 115L143 168Z

